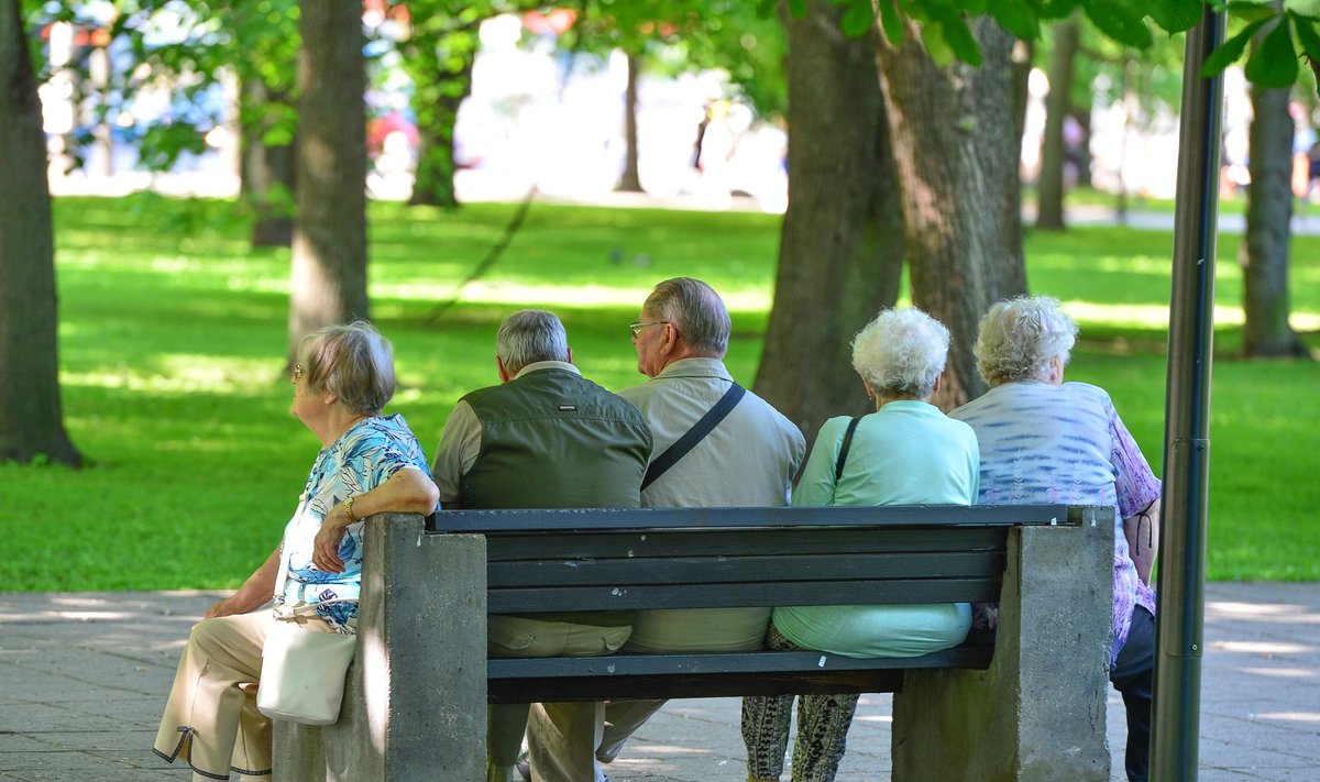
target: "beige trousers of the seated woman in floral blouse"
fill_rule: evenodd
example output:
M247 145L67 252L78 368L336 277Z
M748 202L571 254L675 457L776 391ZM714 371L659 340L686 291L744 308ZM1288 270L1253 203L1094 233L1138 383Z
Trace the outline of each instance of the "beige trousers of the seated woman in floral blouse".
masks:
M256 709L256 683L272 622L263 609L193 626L154 749L169 762L182 756L194 781L271 773L271 719Z

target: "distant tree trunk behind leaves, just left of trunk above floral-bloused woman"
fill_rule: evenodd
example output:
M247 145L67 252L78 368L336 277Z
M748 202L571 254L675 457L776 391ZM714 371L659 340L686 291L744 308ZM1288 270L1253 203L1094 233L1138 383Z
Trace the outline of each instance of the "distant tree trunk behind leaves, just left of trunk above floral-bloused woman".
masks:
M267 144L273 104L289 96L272 92L260 78L243 81L240 124L240 197L256 211L253 247L289 247L293 243L294 145Z

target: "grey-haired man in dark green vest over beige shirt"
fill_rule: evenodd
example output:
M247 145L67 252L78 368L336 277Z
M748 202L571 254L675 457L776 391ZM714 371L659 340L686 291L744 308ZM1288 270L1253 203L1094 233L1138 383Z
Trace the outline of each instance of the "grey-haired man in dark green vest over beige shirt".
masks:
M523 310L504 320L495 341L502 383L458 402L436 450L432 473L444 507L640 506L651 429L636 407L585 379L572 359L564 324L554 314ZM487 653L612 654L631 633L631 612L495 616ZM533 779L591 777L602 708L558 703L536 709L528 730ZM490 782L520 779L516 764L527 728L525 704L490 708Z

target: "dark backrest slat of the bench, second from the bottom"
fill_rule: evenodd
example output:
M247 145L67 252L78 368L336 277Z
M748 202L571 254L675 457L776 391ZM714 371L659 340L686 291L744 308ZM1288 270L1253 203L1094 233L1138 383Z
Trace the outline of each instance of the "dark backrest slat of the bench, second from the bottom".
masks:
M722 584L764 579L818 581L830 579L997 577L1005 556L998 552L847 553L826 556L714 556L681 559L611 559L491 563L487 584L503 586L576 586L591 584Z

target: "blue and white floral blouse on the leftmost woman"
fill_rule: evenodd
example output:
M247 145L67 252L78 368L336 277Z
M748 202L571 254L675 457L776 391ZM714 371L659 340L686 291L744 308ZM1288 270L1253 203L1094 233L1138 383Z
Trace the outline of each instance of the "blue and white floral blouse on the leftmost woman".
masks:
M404 469L430 476L421 444L397 413L354 424L317 456L298 509L284 528L288 577L275 596L277 612L310 606L335 631L354 631L362 589L362 522L350 524L339 543L342 573L327 573L312 564L313 542L334 506L371 491ZM351 602L329 602L339 600Z

